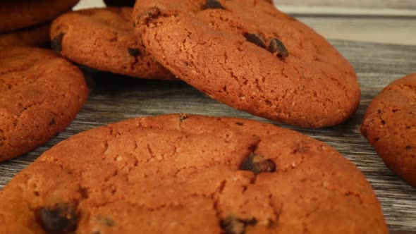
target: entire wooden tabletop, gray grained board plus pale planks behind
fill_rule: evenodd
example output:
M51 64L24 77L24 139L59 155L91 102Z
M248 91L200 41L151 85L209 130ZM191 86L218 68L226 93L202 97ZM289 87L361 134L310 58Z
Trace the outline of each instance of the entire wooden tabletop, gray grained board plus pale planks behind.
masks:
M324 36L336 39L331 40L331 43L353 63L362 88L360 109L341 125L318 130L282 126L322 140L353 161L372 183L391 233L416 233L416 189L389 171L360 135L362 117L372 98L392 80L416 72L416 1L279 2L284 5L283 9L310 24ZM310 5L310 12L305 12L303 2ZM322 3L331 3L331 6ZM99 4L100 1L84 0L78 7ZM336 11L329 11L331 8L336 8ZM0 164L0 188L42 152L61 140L82 130L126 118L164 113L195 113L270 122L214 101L184 82L139 80L105 73L90 73L90 77L94 83L90 99L75 121L44 147Z

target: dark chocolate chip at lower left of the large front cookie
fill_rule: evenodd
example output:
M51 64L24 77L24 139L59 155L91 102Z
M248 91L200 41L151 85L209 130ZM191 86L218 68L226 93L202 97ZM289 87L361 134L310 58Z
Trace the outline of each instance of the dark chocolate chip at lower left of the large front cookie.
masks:
M69 204L55 204L39 210L40 221L46 233L71 233L77 228L78 216Z

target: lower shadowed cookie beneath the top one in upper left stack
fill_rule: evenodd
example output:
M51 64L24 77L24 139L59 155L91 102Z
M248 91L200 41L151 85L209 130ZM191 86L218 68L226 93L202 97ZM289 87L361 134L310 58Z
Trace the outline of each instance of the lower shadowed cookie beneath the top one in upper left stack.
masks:
M50 23L36 25L23 30L0 33L1 46L43 47L49 44Z

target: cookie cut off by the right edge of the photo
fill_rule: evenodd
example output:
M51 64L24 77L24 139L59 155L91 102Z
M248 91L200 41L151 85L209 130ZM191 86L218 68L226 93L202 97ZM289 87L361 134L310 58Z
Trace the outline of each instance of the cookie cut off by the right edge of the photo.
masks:
M388 168L416 187L416 73L395 80L373 99L361 133Z

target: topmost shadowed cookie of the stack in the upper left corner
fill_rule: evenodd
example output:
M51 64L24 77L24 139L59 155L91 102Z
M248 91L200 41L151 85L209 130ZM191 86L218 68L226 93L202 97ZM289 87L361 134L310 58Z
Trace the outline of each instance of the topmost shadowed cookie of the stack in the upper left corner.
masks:
M13 0L1 1L0 32L44 23L70 10L79 0Z

